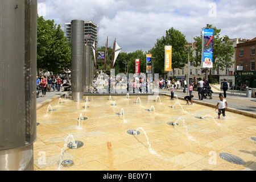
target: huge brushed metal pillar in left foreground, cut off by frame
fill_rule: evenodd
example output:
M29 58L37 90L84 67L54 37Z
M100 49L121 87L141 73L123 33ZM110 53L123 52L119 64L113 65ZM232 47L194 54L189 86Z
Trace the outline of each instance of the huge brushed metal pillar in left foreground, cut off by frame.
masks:
M37 3L0 1L0 171L34 169Z

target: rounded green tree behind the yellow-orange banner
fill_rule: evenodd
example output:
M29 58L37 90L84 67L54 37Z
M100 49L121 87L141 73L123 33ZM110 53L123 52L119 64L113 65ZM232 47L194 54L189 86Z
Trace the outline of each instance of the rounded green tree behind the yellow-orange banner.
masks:
M155 47L150 50L154 59L154 73L164 72L164 46L172 46L172 69L184 68L187 63L187 51L185 45L187 40L180 31L175 30L173 27L166 31L166 36L157 39Z

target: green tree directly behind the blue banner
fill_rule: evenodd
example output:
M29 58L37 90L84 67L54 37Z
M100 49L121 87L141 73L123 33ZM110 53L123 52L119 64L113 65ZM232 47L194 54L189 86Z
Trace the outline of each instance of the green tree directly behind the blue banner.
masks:
M227 35L221 37L220 29L213 27L211 24L209 28L214 30L213 34L213 69L214 70L222 70L226 68L231 68L234 64L232 61L232 57L234 55L235 48L233 47L233 43L229 41L229 37ZM196 56L192 59L192 64L195 67L199 67L201 65L201 55L202 55L202 37L196 36L194 38L196 41Z

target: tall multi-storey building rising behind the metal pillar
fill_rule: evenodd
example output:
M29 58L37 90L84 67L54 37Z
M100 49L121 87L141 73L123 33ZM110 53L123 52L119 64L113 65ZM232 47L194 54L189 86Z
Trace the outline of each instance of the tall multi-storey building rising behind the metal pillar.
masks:
M65 23L65 36L68 40L71 40L71 23ZM93 46L94 40L96 40L96 47L98 46L98 26L92 21L86 21L84 23L84 42L89 46Z

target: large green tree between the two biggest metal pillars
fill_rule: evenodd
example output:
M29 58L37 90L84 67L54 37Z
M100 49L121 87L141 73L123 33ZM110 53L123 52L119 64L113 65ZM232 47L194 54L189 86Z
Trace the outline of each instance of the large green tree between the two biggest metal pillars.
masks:
M63 73L71 68L71 42L68 42L60 25L54 20L38 16L37 68Z

